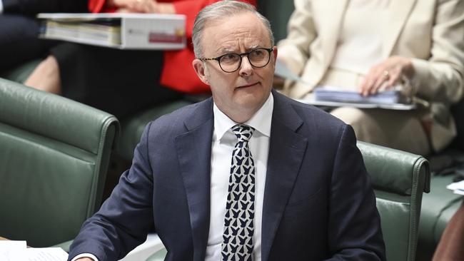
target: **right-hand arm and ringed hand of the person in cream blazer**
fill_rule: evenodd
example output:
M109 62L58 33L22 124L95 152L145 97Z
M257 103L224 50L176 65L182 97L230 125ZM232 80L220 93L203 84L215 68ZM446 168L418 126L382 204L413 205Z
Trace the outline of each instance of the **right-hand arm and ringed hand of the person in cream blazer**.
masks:
M440 1L430 32L430 53L424 57L392 56L373 66L361 84L362 93L375 93L388 76L388 86L410 82L413 93L428 101L455 103L464 93L464 2ZM426 30L425 30L426 31ZM398 41L401 41L399 39Z

